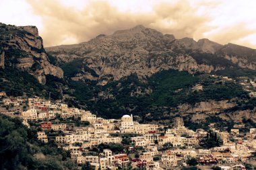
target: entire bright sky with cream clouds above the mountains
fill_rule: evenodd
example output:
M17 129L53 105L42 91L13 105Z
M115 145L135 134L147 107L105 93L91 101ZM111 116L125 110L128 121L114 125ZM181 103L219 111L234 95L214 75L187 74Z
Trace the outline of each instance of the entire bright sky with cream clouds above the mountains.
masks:
M86 42L136 25L176 38L256 49L255 0L0 0L0 22L36 26L44 46Z

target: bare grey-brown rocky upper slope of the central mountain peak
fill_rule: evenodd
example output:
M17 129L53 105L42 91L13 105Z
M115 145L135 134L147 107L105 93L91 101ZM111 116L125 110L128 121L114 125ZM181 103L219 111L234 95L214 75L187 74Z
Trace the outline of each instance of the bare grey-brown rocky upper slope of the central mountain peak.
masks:
M255 57L241 55L240 50L233 51L233 48L230 44L222 46L207 39L198 42L192 38L177 40L173 35L135 26L109 36L101 34L81 44L46 48L46 51L62 63L82 59L88 69L77 71L71 77L73 80L109 77L119 80L131 73L145 77L167 69L189 73L211 73L228 67L255 69ZM255 55L253 49L240 48L242 54ZM208 60L205 54L210 55ZM230 65L224 64L227 62ZM92 75L90 70L96 74Z

